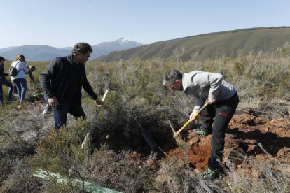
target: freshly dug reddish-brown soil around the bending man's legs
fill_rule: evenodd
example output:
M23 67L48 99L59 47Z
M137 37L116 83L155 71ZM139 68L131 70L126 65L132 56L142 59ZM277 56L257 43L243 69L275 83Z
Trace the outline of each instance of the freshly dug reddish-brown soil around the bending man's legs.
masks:
M191 131L183 131L182 138L190 147L185 157L184 150L175 146L173 134L167 133L165 145L167 157L187 159L196 171L207 168L207 159L210 157L211 136L198 136ZM281 161L290 160L290 119L270 120L267 116L254 117L252 115L235 115L226 130L225 160L232 150L241 150L247 156L275 157ZM259 146L261 145L261 146ZM171 148L170 148L171 147ZM262 148L264 150L262 150ZM241 164L241 162L237 162Z

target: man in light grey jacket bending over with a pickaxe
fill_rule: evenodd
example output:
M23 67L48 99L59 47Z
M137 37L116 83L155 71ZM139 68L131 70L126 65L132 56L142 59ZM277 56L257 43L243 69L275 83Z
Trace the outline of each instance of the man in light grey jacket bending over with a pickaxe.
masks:
M168 71L165 76L165 85L172 90L184 91L185 94L195 96L195 107L190 115L192 122L195 121L193 115L208 99L209 106L202 114L202 127L193 129L193 133L202 136L212 134L212 151L207 162L208 169L201 173L201 176L215 178L221 171L220 163L223 157L226 127L239 103L237 90L223 80L221 74L202 71L192 71L184 75L177 70Z

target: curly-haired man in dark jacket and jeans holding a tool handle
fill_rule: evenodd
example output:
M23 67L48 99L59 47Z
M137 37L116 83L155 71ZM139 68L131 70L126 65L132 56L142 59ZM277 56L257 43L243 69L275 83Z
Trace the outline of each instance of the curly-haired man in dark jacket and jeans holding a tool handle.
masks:
M91 52L92 47L88 43L76 43L71 55L54 59L39 77L41 87L48 96L48 104L53 108L55 129L67 124L67 113L76 118L85 118L81 107L82 87L97 105L102 103L85 74L85 62Z

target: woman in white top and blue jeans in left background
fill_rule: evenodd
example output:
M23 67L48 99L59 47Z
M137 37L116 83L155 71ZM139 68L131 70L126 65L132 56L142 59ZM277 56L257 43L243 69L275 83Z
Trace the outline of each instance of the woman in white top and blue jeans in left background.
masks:
M25 62L24 55L18 54L17 57L13 60L11 66L15 67L18 71L18 74L16 76L11 76L11 80L13 81L13 83L15 83L17 87L17 93L21 104L25 99L25 94L27 90L25 73L28 73L29 71Z

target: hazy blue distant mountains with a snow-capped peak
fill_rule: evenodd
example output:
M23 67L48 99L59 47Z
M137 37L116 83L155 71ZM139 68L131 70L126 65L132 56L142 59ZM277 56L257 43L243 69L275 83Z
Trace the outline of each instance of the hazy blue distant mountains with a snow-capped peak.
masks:
M90 60L95 59L102 55L107 55L113 51L125 50L128 48L134 48L139 45L144 45L139 41L132 41L128 38L120 38L116 41L109 41L99 43L98 45L92 45L92 54ZM55 57L69 55L72 47L55 48L48 45L23 45L14 46L9 48L1 48L0 55L6 60L15 59L16 55L22 54L27 61L48 61L55 59Z

